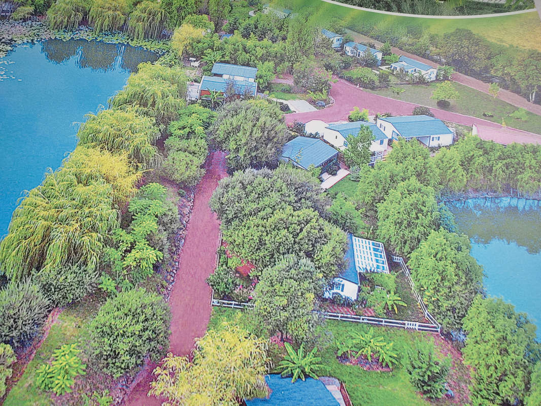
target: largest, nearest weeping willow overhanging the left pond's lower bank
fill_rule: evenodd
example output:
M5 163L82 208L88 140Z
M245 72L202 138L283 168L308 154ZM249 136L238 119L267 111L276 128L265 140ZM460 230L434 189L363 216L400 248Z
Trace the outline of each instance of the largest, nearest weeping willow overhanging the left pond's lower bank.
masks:
M91 172L51 171L21 200L0 243L0 264L9 278L64 265L96 269L120 216L113 186Z

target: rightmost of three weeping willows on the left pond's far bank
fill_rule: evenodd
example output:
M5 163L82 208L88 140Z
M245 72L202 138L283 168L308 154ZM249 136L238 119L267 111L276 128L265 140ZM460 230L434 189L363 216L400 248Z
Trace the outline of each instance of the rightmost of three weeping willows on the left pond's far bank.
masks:
M156 39L167 23L167 11L161 3L144 1L131 12L128 22L128 34L136 40Z

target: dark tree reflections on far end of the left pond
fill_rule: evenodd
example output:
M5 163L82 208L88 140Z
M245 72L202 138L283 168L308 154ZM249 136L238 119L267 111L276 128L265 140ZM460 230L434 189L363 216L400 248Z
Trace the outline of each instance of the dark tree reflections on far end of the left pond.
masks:
M41 46L42 53L49 61L64 63L74 58L77 67L99 71L122 69L135 72L139 63L157 59L155 53L143 48L100 41L48 40L43 41Z

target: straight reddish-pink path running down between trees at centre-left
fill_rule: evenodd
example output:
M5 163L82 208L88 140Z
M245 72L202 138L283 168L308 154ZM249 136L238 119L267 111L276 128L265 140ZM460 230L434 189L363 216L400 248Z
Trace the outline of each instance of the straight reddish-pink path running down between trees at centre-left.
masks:
M216 266L216 250L220 244L220 223L210 211L208 202L218 181L227 176L225 154L213 152L207 161L207 173L197 185L194 207L186 241L182 247L179 271L169 299L171 337L169 351L185 356L192 351L194 339L202 337L210 318L210 296L206 279ZM160 406L161 401L148 397L149 383L155 365L149 365L126 402L127 406Z

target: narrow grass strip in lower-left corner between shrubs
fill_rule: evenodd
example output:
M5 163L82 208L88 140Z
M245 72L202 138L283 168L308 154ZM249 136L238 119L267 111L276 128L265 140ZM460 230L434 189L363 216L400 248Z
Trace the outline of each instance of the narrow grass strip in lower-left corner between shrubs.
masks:
M87 327L90 318L97 310L93 300L67 307L55 324L51 326L49 335L37 350L34 359L27 365L23 376L11 389L4 401L4 406L50 406L50 394L43 392L36 385L36 370L49 361L52 352L63 344L80 342L80 349L86 348Z

